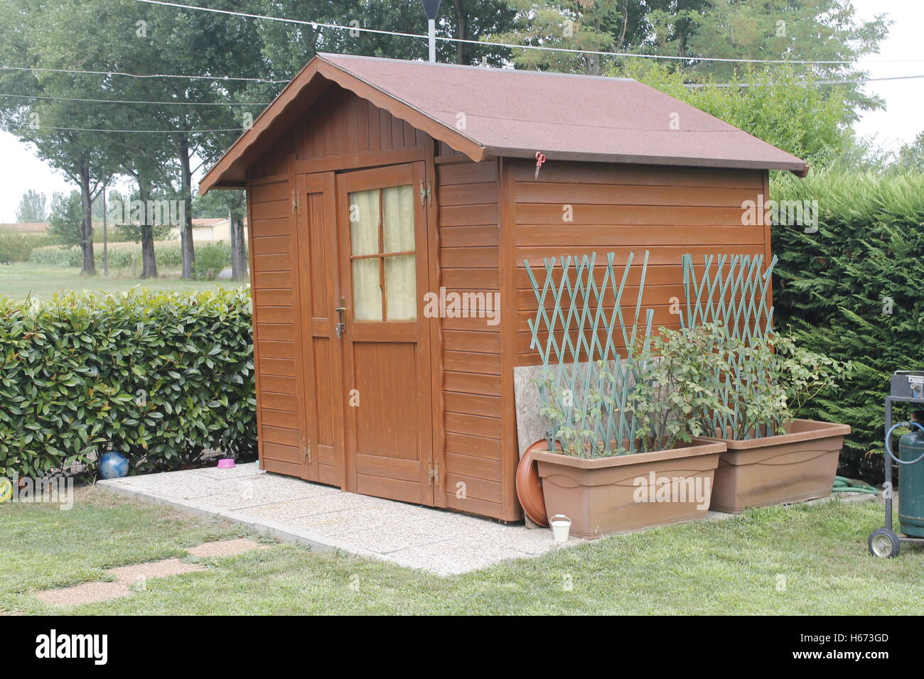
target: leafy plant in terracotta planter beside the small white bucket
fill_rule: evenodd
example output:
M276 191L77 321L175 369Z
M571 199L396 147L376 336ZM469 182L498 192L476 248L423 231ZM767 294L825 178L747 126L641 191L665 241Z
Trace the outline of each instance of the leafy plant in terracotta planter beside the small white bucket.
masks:
M541 412L561 446L533 452L548 516L567 516L572 535L599 538L706 514L725 450L698 438L699 412L726 407L716 332L662 329L626 360L542 373Z

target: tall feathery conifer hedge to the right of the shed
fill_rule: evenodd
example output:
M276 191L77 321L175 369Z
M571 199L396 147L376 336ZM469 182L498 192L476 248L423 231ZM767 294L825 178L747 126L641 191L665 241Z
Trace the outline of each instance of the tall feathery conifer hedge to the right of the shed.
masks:
M777 324L791 323L802 346L857 368L806 414L853 427L842 471L878 481L889 375L924 370L924 175L781 175L772 198L818 200L820 210L818 233L773 227Z

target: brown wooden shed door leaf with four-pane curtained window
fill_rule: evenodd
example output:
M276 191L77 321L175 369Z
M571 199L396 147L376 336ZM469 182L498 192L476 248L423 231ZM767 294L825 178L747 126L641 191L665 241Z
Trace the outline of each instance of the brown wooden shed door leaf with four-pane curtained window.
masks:
M422 163L337 176L346 490L433 503Z

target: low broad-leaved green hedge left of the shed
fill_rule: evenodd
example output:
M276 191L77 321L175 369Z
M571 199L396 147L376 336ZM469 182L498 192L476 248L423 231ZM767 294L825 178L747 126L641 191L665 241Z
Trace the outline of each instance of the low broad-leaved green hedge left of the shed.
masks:
M0 476L256 449L248 290L0 297ZM92 467L92 465L91 465Z

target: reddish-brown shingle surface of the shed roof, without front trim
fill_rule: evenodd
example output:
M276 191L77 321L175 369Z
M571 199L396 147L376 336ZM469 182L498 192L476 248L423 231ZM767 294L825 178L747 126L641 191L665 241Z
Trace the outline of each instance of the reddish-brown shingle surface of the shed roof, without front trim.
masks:
M319 55L492 155L801 170L805 162L636 80Z

